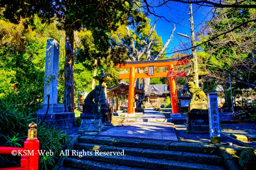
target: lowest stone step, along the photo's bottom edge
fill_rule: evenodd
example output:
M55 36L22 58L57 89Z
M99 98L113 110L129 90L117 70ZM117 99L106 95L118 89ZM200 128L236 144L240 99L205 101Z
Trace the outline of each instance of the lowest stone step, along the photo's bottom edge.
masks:
M64 161L64 166L79 169L104 169L104 170L225 170L221 166L202 165L199 163L188 163L170 161L165 159L154 159L134 156L89 156L73 157Z

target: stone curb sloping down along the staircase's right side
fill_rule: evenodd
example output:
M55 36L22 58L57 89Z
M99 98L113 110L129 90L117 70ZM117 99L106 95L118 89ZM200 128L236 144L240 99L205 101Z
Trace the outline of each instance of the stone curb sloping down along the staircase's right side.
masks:
M217 146L217 148L219 150L219 154L223 157L226 169L227 170L238 170L235 162L233 161L231 154L227 152L228 148L219 143L215 143L214 145Z

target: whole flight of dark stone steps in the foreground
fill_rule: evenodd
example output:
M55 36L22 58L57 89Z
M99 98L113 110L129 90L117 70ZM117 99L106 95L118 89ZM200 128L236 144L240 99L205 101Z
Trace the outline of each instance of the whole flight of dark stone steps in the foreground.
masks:
M225 170L223 158L211 143L84 135L73 150L75 154L69 153L60 170ZM123 150L125 155L100 155Z

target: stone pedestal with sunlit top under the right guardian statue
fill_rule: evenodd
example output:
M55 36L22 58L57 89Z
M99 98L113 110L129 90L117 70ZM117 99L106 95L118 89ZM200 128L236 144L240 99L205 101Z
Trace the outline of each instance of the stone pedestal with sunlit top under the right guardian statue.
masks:
M208 134L209 118L207 101L191 101L187 113L187 134Z

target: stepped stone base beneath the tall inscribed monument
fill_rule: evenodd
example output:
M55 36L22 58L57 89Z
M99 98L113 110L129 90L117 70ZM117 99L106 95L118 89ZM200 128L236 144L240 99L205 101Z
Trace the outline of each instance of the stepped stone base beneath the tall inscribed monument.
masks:
M46 110L47 104L43 104L43 108L37 111L38 120L44 119ZM75 113L65 113L63 104L49 104L48 114L44 121L49 127L69 129L75 126Z

